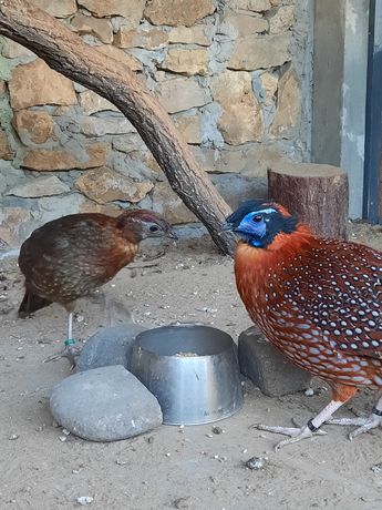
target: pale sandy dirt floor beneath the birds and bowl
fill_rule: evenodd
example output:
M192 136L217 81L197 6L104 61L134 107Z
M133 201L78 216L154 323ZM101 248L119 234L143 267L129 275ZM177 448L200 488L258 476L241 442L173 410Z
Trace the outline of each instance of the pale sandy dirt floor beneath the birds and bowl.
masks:
M354 241L382 249L381 227L354 224L352 232ZM231 261L210 243L180 243L158 259L141 257L134 267L121 271L105 292L136 322L199 320L235 339L250 326ZM382 508L382 430L350 442L349 428L326 426L327 436L275 452L281 437L250 428L259 421L287 426L292 416L307 419L328 402L324 389L271 399L246 384L244 408L218 424L220 435L206 425L162 426L112 443L65 436L52 421L49 396L70 375L69 365L42 364L61 348L65 313L54 305L17 319L21 297L16 259L0 261L0 509L72 509L81 497L93 498L94 510ZM100 325L99 305L80 303L76 337L85 340ZM342 415L374 398L362 392ZM246 468L254 456L266 458L262 469Z

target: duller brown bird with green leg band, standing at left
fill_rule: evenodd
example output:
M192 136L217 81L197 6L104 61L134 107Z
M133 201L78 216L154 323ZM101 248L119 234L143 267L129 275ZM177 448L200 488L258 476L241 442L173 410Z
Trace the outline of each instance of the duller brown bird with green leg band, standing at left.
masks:
M25 294L19 317L52 303L69 313L63 353L74 365L79 349L72 338L75 300L112 279L131 263L146 237L176 238L172 226L148 210L127 210L117 217L104 214L71 214L53 220L24 241L19 266L25 276Z

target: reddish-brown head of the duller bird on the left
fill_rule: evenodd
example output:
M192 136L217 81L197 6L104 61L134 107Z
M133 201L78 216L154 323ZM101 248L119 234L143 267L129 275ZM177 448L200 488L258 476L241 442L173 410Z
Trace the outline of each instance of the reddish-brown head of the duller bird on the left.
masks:
M151 210L124 211L117 217L117 227L133 242L140 242L146 237L177 239L172 225L163 216Z

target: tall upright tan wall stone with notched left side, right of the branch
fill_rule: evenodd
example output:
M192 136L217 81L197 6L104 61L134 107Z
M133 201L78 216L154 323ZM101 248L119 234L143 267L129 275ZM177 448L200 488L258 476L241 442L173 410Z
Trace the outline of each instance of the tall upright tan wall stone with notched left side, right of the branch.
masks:
M226 71L211 80L214 99L221 105L218 128L224 140L238 145L260 141L264 119L247 72Z

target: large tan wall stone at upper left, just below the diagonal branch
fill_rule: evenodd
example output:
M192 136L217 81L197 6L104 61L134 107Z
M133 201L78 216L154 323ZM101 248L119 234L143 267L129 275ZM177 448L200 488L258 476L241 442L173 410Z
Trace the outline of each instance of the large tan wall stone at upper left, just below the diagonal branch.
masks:
M76 101L73 83L41 59L12 69L8 86L14 110L38 104L69 105Z

